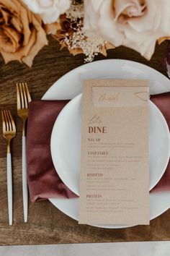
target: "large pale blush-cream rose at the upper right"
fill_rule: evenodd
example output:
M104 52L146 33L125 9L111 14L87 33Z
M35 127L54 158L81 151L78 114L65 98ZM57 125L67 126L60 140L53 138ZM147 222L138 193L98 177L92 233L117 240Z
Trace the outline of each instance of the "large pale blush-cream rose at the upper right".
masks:
M151 59L156 40L170 35L169 0L84 0L84 30Z

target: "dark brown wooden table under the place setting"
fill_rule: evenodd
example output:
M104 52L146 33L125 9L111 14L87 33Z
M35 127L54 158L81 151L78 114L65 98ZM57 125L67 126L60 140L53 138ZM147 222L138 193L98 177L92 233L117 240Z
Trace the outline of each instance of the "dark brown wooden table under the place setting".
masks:
M28 82L33 100L38 100L53 82L71 69L84 64L84 56L71 56L67 50L49 38L49 46L40 51L32 69L17 61L5 65L0 59L0 106L9 108L17 124L17 137L12 142L14 180L14 223L8 225L6 200L6 141L0 132L0 245L12 244L64 244L94 242L128 242L170 240L170 210L151 221L150 226L135 226L128 229L99 229L78 223L50 202L30 202L28 223L23 221L22 209L22 121L17 117L16 82ZM166 42L156 47L151 61L138 53L119 47L110 50L108 59L130 59L157 69L166 74L164 56ZM105 59L97 56L95 60ZM1 121L0 121L1 131Z

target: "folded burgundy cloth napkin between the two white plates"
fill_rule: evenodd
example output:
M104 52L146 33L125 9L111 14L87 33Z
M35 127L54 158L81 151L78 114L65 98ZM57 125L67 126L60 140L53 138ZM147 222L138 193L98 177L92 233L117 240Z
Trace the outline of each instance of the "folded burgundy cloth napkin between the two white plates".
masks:
M170 93L153 95L151 101L170 127ZM68 101L32 101L27 125L27 179L32 202L76 197L61 181L50 155L50 135L55 119ZM152 192L170 190L170 163Z

